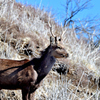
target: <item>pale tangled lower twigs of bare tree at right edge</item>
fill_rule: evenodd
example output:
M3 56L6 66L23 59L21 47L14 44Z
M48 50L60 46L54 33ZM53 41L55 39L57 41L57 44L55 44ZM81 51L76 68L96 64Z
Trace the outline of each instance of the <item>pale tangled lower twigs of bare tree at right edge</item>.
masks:
M100 19L97 17L85 18L77 21L75 30L78 37L86 37L86 41L91 45L91 49L98 47L100 44Z

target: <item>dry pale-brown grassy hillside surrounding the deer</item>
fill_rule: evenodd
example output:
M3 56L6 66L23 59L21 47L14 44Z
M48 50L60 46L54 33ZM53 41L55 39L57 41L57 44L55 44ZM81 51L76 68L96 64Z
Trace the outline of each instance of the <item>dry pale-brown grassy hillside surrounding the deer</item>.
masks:
M49 45L50 25L54 36L61 37L69 58L57 60L36 91L36 100L99 100L99 48L91 51L83 38L77 39L74 28L59 26L45 9L0 1L0 58L40 57L40 51ZM21 100L21 91L0 91L1 100L9 98Z

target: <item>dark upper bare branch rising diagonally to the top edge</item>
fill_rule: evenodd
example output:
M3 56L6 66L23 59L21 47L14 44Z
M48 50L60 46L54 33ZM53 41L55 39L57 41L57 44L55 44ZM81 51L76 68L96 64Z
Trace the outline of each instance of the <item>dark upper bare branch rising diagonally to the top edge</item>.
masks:
M74 22L73 18L81 11L87 9L91 0L66 0L66 18L64 26L69 26Z

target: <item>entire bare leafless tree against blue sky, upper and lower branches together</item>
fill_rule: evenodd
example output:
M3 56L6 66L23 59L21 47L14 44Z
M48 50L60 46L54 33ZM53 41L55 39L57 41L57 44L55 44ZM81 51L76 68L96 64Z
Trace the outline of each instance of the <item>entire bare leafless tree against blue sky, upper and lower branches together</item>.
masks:
M91 50L100 47L100 18L90 16L83 19L76 17L91 6L91 0L66 0L66 18L64 19L64 27L72 27L74 25L78 38L84 38L91 46ZM89 16L89 15L88 15Z

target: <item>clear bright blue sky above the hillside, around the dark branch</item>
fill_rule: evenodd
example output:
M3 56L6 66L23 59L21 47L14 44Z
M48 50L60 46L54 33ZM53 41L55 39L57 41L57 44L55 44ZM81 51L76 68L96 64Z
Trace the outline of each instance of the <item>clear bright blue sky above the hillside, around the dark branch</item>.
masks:
M65 18L65 4L66 0L16 0L24 4L44 7L51 10L55 14L56 20L63 22ZM76 18L82 19L86 16L98 16L100 18L100 0L92 0L90 7L79 13Z

